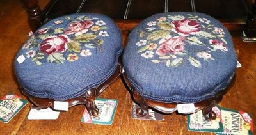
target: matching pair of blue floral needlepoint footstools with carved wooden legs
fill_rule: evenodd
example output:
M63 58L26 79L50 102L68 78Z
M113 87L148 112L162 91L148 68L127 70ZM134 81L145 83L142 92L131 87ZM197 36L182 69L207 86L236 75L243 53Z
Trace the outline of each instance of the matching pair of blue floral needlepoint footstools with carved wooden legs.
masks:
M76 13L47 22L15 56L22 93L37 107L85 104L122 74L132 100L170 114L203 110L207 119L234 80L237 56L232 37L218 20L203 13L159 13L122 35L109 17ZM123 69L123 73L122 73ZM111 97L109 97L111 98Z

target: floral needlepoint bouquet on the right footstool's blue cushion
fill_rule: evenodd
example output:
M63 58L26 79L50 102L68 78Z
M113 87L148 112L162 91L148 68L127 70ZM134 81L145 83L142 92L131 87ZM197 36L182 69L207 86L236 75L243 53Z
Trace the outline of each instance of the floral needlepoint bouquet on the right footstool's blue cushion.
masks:
M167 67L179 67L186 61L194 67L202 67L202 60L214 60L213 51L228 51L223 29L197 15L159 17L148 22L138 34L138 53L153 63L164 62ZM193 45L198 49L188 51Z

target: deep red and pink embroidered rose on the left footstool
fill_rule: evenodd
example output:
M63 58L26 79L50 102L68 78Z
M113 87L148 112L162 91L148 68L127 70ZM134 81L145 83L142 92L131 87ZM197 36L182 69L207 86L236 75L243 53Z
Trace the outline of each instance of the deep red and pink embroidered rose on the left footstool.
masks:
M40 49L48 55L54 52L64 52L67 49L66 44L68 42L70 42L70 39L67 35L51 36L40 44Z

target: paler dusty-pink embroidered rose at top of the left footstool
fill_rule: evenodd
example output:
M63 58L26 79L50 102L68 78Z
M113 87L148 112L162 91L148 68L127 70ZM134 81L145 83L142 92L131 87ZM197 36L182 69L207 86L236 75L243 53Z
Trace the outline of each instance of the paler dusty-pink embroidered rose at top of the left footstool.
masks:
M67 31L65 31L66 35L75 34L81 35L88 31L88 28L93 25L92 21L80 21L80 22L72 22L69 24Z

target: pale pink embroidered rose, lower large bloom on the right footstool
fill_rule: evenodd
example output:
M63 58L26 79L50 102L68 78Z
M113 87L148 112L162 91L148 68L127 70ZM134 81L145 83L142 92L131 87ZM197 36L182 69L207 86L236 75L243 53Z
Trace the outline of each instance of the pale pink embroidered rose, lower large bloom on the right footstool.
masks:
M164 56L168 52L175 54L184 51L185 43L183 40L185 40L184 36L166 36L159 41L160 47L157 49L156 54Z

